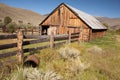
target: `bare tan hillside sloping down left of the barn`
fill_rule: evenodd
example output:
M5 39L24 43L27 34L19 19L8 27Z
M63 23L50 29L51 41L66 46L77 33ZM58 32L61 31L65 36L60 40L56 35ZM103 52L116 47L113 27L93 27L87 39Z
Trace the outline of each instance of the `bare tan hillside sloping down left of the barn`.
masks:
M3 20L5 16L10 16L17 23L18 21L23 21L23 23L32 23L36 26L45 18L45 16L33 11L14 8L0 3L0 19Z

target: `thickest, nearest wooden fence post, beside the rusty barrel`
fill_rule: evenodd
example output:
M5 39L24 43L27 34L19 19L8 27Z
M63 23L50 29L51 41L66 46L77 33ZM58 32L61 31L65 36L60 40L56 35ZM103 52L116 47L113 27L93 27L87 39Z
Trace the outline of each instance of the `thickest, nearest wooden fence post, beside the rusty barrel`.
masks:
M17 58L19 63L23 63L23 32L21 30L17 33Z

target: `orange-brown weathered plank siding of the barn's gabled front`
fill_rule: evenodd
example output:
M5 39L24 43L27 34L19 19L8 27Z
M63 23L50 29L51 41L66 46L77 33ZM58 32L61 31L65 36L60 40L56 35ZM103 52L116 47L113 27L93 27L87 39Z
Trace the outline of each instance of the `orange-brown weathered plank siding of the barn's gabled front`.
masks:
M64 5L58 7L42 25L56 27L57 34L67 34L69 31L68 26L71 26L71 33L81 31L81 40L88 41L90 37L90 28Z

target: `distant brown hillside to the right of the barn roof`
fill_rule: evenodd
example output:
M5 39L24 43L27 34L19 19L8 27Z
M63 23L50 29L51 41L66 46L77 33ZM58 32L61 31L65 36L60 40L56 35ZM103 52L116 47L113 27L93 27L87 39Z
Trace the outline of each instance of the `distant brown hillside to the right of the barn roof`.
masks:
M100 22L107 23L110 29L120 29L120 18L96 17Z

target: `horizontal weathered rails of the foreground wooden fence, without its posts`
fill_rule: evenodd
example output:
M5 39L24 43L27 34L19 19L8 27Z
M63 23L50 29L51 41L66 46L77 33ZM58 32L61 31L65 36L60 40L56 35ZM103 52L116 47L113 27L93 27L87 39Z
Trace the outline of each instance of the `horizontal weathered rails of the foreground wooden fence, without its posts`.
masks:
M53 47L56 47L56 46L59 46L61 44L66 43L66 41L58 42L58 43L54 43L54 41L60 41L60 40L68 40L68 39L70 39L71 42L72 42L72 41L78 40L78 37L79 37L79 33L74 33L74 34L72 33L71 37L69 37L68 34L55 35L55 36L52 37L52 38L54 38L54 40L52 40L53 42L50 45L45 45L45 46L40 46L40 47L23 49L23 53L31 52L31 51L35 51L35 50L41 50L41 49L45 49L45 48L49 48L51 45ZM15 38L17 38L16 34L0 35L0 40L15 39ZM22 46L51 41L50 40L50 36L48 36L48 35L43 35L43 36L23 35L23 39L33 39L33 40L23 41L22 42ZM0 45L0 50L8 49L8 48L14 48L14 47L18 47L18 44L17 43L2 44L2 45ZM2 53L2 54L0 54L0 59L7 58L7 57L10 57L10 56L14 56L17 53L18 53L18 49L16 51Z

